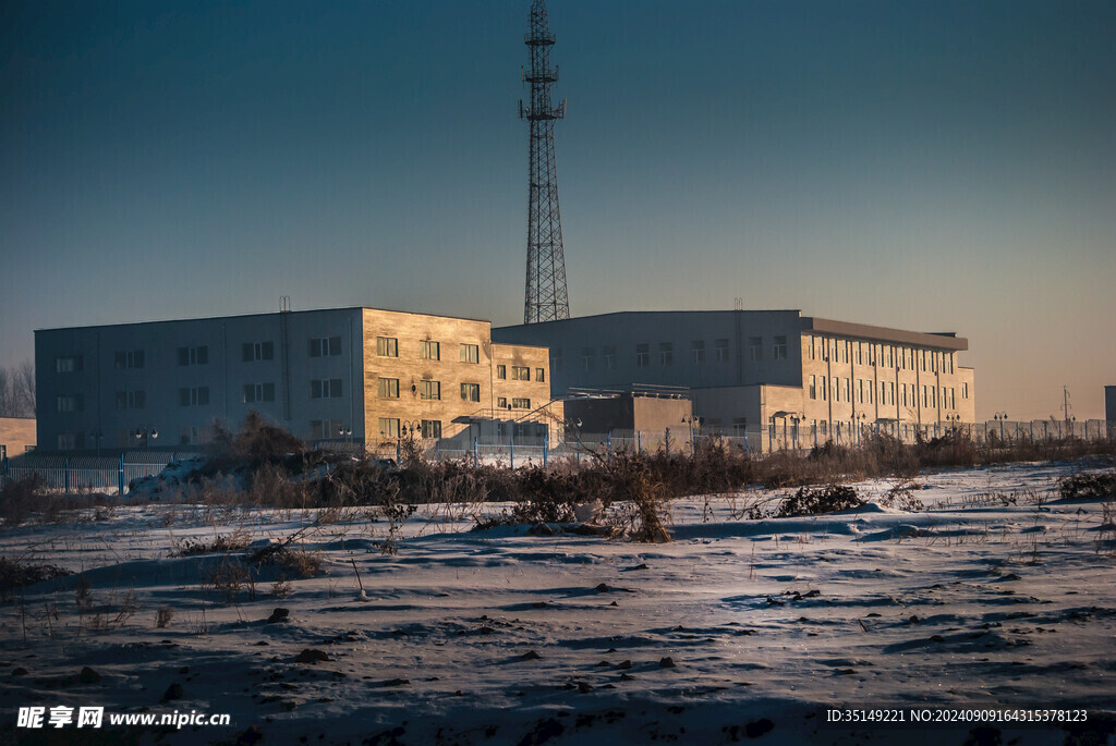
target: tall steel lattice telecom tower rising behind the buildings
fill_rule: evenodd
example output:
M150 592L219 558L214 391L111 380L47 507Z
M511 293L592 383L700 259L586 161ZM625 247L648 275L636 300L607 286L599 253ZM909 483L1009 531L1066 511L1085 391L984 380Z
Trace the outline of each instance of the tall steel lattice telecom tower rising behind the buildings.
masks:
M560 106L550 104L550 86L558 80L558 68L550 68L555 35L547 22L543 0L531 3L530 25L523 42L531 50L531 70L521 69L520 77L531 84L531 99L527 106L519 101L519 117L527 119L531 137L523 323L569 318L555 165L555 122L566 116L566 100Z

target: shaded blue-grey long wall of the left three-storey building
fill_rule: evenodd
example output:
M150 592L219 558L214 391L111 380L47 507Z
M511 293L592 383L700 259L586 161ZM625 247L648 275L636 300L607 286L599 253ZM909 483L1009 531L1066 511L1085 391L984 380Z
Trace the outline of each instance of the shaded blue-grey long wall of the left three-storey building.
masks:
M337 353L312 357L323 338L339 338ZM39 448L94 449L98 433L102 448L135 447L137 429L158 434L140 445L200 445L215 422L237 429L252 409L302 438L312 420L359 438L359 339L354 309L37 331ZM339 396L311 396L312 379L339 380Z

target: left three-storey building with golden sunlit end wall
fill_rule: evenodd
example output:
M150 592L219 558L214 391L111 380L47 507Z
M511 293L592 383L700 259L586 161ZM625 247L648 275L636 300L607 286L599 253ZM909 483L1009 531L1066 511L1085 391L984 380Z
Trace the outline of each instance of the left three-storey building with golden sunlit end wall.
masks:
M35 332L40 450L204 444L250 410L310 442L557 437L547 350L488 321L344 308Z

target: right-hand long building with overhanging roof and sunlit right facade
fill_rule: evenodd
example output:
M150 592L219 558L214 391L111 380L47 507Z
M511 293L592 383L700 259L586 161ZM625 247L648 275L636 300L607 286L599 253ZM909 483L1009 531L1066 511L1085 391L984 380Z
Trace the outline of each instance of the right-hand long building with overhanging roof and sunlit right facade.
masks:
M933 436L975 416L969 342L800 311L627 311L492 330L550 350L556 397L687 389L705 432Z

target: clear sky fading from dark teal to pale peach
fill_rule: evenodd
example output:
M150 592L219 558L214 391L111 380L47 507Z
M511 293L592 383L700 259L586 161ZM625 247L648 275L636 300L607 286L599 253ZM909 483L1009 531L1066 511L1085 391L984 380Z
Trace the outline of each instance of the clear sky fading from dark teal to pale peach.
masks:
M522 320L527 0L0 4L0 366L33 330ZM969 339L979 418L1116 384L1116 3L549 0L570 312Z

